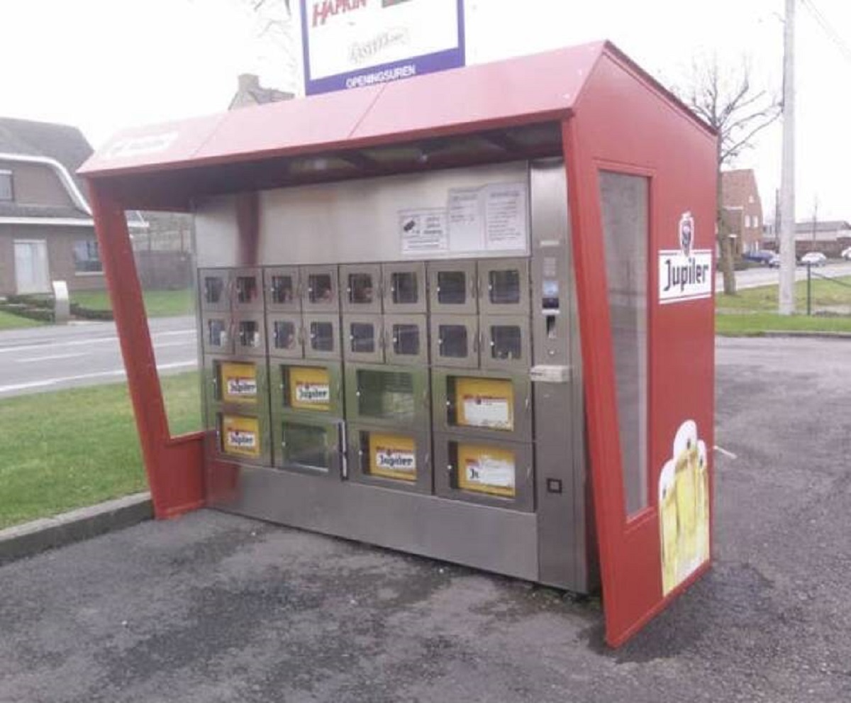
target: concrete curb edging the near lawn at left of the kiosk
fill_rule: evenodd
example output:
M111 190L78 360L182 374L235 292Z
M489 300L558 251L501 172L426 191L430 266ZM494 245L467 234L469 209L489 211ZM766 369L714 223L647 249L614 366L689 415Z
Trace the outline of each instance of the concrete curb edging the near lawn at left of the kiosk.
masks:
M0 530L0 564L130 527L153 517L150 493L137 493Z

